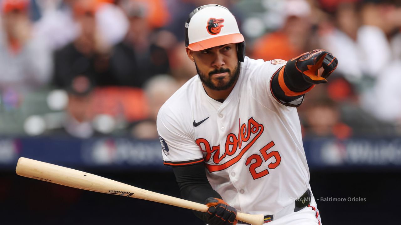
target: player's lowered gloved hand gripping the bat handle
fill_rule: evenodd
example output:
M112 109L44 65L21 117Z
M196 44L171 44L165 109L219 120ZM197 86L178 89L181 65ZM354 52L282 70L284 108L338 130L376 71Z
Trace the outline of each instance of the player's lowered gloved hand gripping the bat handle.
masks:
M236 225L237 209L228 205L222 199L208 198L206 199L207 224L209 225Z

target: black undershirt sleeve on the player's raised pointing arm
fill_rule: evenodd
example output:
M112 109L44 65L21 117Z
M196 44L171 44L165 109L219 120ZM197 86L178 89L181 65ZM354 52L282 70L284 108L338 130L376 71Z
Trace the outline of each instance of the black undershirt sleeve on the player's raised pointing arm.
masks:
M279 70L277 70L275 72L275 74L273 74L273 77L271 79L272 94L275 96L275 98L281 100L282 104L297 107L302 102L299 104L289 104L289 102L292 102L292 101L302 97L302 95L304 95L304 94L300 94L297 96L287 96L284 93L284 90L280 87L280 84L279 84L279 73L283 69L284 69L284 74L283 74L284 83L286 84L288 89L290 89L291 91L303 92L303 91L307 90L308 88L310 88L310 86L312 86L312 84L307 82L304 79L302 73L299 72L296 69L295 64L293 64L290 61L287 62L285 67L280 68Z

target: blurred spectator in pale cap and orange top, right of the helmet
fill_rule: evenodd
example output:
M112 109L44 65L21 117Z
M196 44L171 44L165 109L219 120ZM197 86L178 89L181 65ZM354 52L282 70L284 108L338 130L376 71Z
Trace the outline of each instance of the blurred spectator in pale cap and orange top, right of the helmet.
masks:
M309 3L306 0L286 0L284 10L284 26L255 41L253 58L290 60L312 50L308 46L312 37Z

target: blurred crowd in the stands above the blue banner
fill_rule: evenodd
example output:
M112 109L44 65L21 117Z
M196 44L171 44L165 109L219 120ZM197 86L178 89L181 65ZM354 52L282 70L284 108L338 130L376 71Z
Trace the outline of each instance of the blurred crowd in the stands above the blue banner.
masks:
M338 58L298 108L305 137L401 135L399 0L0 2L2 136L157 138L160 106L196 75L184 22L213 3L236 16L251 58Z

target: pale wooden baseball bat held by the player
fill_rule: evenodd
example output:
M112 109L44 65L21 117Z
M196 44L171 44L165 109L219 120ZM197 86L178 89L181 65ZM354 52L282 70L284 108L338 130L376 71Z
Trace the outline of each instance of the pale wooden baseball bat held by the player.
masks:
M88 191L96 191L112 195L121 195L148 201L155 201L201 212L206 212L208 209L207 205L200 203L140 189L138 187L127 185L118 181L93 175L91 173L85 173L83 171L61 167L50 163L44 163L33 159L27 159L24 157L18 159L15 171L20 176ZM250 223L251 225L263 224L263 215L251 215L238 212L236 219Z

